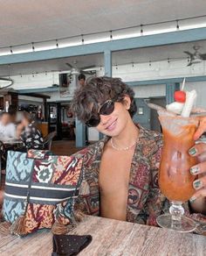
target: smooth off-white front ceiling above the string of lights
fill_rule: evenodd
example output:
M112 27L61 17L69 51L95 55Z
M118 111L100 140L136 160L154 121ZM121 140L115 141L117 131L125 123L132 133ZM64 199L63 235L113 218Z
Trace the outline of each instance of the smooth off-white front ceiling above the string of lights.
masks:
M0 0L0 46L205 15L205 0Z

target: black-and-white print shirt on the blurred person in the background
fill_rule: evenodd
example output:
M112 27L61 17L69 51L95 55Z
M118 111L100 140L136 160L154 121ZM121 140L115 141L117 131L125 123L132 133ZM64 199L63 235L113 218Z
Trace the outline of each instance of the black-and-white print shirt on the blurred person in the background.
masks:
M24 132L22 132L20 139L23 141L26 149L43 149L44 148L44 139L42 138L41 132L38 131L38 128L33 124L29 124Z

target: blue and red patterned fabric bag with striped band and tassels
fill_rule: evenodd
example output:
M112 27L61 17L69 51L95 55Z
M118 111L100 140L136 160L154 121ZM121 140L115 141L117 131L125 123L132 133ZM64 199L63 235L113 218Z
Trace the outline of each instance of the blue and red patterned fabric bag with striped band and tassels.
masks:
M82 159L48 151L8 152L3 217L10 232L25 235L54 222L75 223ZM64 233L64 232L63 232Z

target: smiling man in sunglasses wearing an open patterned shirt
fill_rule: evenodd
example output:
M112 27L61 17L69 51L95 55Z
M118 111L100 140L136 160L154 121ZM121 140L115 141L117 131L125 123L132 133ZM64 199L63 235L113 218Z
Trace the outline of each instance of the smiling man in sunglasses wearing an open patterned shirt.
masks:
M84 179L75 209L89 215L157 225L156 217L168 210L168 201L158 186L162 139L161 134L134 124L134 91L118 78L93 78L75 92L72 109L80 121L106 135L77 153L84 158ZM198 146L198 154L206 151L203 144ZM206 163L197 166L202 173L203 165ZM201 181L203 188L206 182ZM206 222L204 200L197 198L185 207L190 217Z

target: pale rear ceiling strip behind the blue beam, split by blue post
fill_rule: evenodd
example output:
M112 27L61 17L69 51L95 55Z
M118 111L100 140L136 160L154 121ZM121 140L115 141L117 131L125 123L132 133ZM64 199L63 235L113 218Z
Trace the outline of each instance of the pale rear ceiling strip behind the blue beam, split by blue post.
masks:
M123 65L134 63L144 63L159 60L182 60L187 59L187 55L183 51L194 53L193 46L200 46L199 52L206 53L206 40L191 43L174 44L168 46L154 46L127 51L119 51L113 53L113 65ZM0 65L0 76L32 74L51 71L65 71L68 67L65 63L71 63L74 67L82 68L94 65L96 67L104 67L103 54L83 55L64 59L35 61L19 64Z

